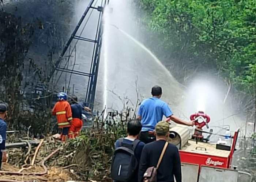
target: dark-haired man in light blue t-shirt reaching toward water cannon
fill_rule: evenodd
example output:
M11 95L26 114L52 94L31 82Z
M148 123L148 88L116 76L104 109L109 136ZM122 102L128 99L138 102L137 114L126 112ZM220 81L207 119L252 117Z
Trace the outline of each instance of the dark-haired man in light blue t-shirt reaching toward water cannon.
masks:
M163 119L163 115L166 117L166 121L173 120L178 124L184 124L187 126L193 126L194 121L185 122L184 120L173 115L169 106L166 102L161 100L162 88L159 86L154 86L151 89L152 97L145 99L141 102L138 119L142 123L142 131L140 132L140 140L144 143L150 143L155 141L155 125Z

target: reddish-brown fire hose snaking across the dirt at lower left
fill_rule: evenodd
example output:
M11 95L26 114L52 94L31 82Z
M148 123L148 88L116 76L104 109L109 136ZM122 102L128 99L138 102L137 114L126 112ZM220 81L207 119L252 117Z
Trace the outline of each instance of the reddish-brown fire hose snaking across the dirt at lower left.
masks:
M36 175L36 176L42 176L47 174L48 169L45 166L45 162L48 161L53 155L55 155L57 152L60 151L59 149L54 150L50 155L45 157L42 162L41 162L41 167L44 169L44 172L42 173L19 173L19 172L13 172L13 171L0 171L0 174L5 174L5 175ZM18 182L18 181L7 181L7 179L0 179L0 182Z

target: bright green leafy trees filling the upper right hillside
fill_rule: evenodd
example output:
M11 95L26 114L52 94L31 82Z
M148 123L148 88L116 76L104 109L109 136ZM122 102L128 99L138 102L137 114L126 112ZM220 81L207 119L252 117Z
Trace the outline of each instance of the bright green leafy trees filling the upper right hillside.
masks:
M146 11L144 23L161 37L153 51L180 82L186 83L195 70L211 70L231 83L243 109L252 107L256 1L140 0L139 7Z

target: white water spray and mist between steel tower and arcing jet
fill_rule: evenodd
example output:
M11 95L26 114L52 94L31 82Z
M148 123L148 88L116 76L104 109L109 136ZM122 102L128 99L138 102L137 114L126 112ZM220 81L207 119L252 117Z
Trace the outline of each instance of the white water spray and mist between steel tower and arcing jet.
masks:
M163 88L162 99L175 112L184 95L184 87L141 43L148 37L144 37L140 25L136 24L138 13L134 6L130 0L112 0L104 12L103 60L99 73L102 90L97 91L101 98L103 95L101 107L120 111L123 108L121 100L129 98L129 106L135 108L138 78L139 96L151 96L151 87L159 85Z

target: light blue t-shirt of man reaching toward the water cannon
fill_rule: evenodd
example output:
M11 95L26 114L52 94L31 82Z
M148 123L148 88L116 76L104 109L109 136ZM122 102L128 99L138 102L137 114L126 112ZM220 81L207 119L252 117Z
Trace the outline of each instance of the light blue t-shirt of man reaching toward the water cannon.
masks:
M167 103L158 99L157 97L151 97L142 101L139 107L138 116L141 116L141 131L153 131L155 125L165 117L173 115Z

